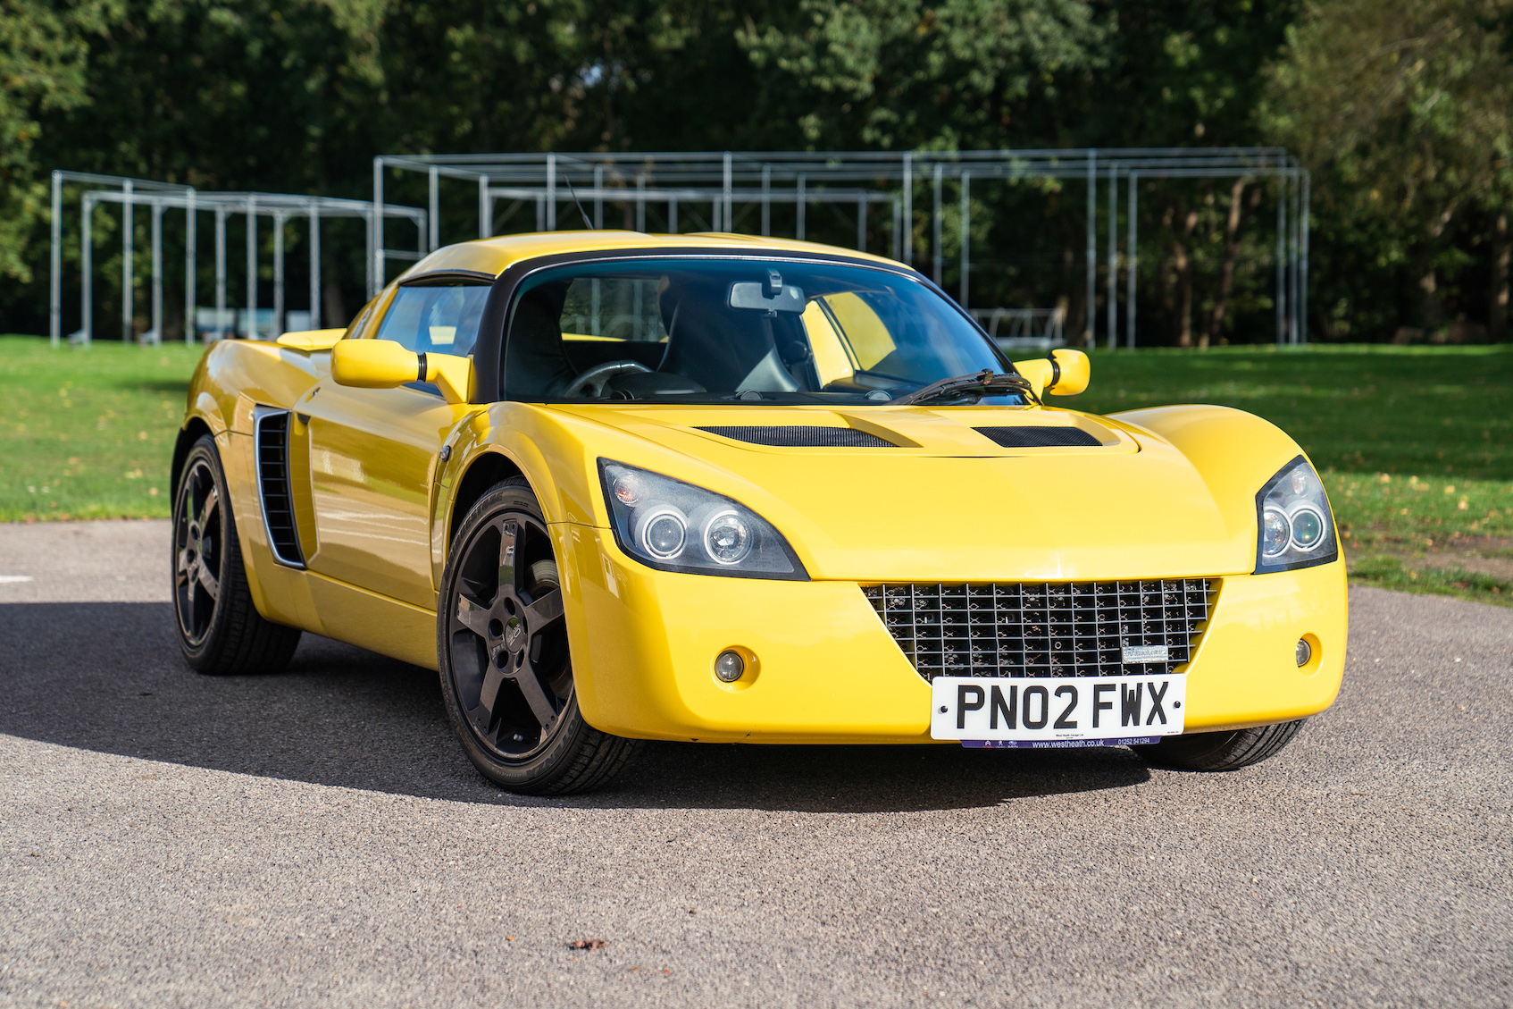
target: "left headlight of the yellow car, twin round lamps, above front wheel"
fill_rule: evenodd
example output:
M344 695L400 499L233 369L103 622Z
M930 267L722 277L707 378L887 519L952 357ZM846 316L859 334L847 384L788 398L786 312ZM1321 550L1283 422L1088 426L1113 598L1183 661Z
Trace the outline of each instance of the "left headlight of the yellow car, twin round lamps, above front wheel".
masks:
M663 571L809 579L788 541L756 512L704 488L599 459L620 550Z

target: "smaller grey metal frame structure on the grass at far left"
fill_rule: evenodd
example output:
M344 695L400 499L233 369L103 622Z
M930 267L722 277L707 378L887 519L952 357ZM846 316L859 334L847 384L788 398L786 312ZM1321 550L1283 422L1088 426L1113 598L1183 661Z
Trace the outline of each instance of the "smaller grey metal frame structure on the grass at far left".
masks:
M88 345L94 339L94 241L92 218L94 209L101 203L118 205L123 215L121 227L121 336L132 339L135 315L135 276L133 276L133 239L135 229L132 211L145 206L151 212L151 311L153 327L144 333L144 342L162 341L163 332L163 256L162 256L162 221L163 212L174 209L185 212L185 342L195 339L195 280L198 268L198 236L197 218L201 212L215 214L215 309L216 329L215 339L225 336L225 221L230 215L247 217L247 309L248 329L256 333L257 327L257 218L269 217L274 221L274 330L283 324L284 315L284 224L294 220L307 220L310 227L310 314L312 320L319 320L321 309L321 220L346 217L362 218L368 224L368 248L374 248L375 211L368 200L345 200L336 197L315 197L286 192L200 192L192 186L154 182L151 179L127 179L121 176L100 176L79 171L53 173L53 248L51 248L51 291L50 291L50 338L53 345L62 342L62 227L64 227L64 185L77 183L89 186L80 195L80 318L82 326L77 333L79 342ZM383 217L410 220L416 226L419 242L427 239L427 212L418 208L389 205L381 211ZM374 256L365 256L369 270ZM369 282L369 286L371 282ZM150 333L150 336L148 336ZM277 335L277 333L275 333ZM71 338L73 339L73 338Z

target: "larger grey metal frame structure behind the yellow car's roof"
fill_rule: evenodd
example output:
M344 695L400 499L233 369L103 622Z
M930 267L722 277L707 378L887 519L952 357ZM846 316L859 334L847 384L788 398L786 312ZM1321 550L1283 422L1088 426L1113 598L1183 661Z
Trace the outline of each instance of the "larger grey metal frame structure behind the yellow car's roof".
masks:
M962 308L970 301L971 271L971 182L974 179L1029 180L1068 179L1086 183L1086 323L1085 345L1097 341L1098 282L1098 186L1109 189L1108 345L1118 338L1118 271L1126 271L1126 344L1135 345L1135 239L1138 235L1136 182L1145 179L1275 177L1277 200L1277 344L1307 342L1307 221L1309 173L1282 147L1138 147L1138 148L1047 148L974 152L684 152L684 153L545 153L545 155L381 155L374 158L374 215L377 235L369 270L369 294L383 288L389 259L415 259L409 250L386 248L383 215L386 176L390 171L424 173L428 182L430 230L422 250L440 245L440 182L477 186L478 236L495 233L495 201L536 203L536 230L557 230L558 212L578 220L578 209L592 226L604 226L604 205L634 208L635 229L646 229L646 205L666 205L669 230L678 230L679 208L710 206L710 230L734 232L737 211L760 209L760 233L772 233L772 205L791 203L794 236L805 236L806 208L812 203L856 208L856 247L867 247L868 208L891 208L891 256L915 265L915 195L929 185L929 271L941 283L946 255L941 224L946 183L956 186L961 201ZM1129 251L1120 262L1118 183L1129 182L1126 220ZM908 223L908 226L905 226ZM570 224L569 224L570 227Z

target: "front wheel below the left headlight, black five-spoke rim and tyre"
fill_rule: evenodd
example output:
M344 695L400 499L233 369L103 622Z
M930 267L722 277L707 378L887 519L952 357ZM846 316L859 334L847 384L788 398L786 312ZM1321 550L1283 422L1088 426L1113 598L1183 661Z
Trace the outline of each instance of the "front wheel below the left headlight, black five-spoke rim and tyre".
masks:
M523 479L496 483L468 512L436 609L446 714L490 782L523 795L584 792L640 748L578 711L557 558Z

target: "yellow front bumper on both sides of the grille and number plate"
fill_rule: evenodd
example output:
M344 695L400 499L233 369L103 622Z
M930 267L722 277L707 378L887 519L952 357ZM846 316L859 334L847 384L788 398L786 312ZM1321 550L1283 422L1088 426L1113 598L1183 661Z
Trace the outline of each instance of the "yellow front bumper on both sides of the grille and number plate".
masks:
M552 526L573 680L596 729L704 742L932 742L930 688L856 582L654 571L605 529ZM1188 732L1328 708L1345 668L1345 565L1223 579L1188 667ZM1298 638L1313 658L1298 668ZM726 648L755 656L737 683Z

